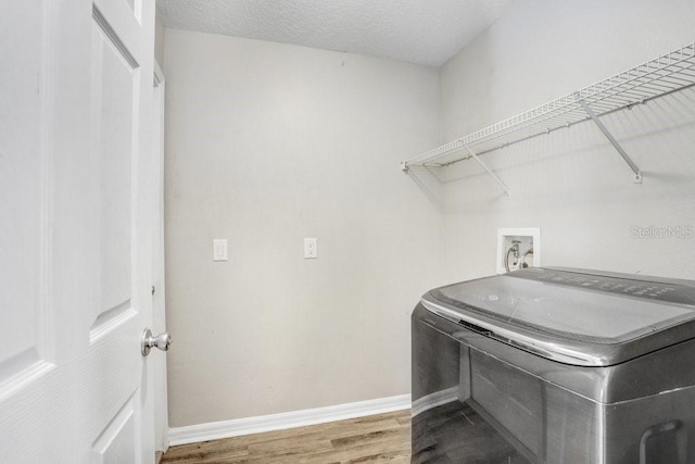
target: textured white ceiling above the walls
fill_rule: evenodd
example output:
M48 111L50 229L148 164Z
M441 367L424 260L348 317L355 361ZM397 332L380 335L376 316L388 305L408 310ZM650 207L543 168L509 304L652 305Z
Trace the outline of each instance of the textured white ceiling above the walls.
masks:
M440 66L511 0L157 0L166 27Z

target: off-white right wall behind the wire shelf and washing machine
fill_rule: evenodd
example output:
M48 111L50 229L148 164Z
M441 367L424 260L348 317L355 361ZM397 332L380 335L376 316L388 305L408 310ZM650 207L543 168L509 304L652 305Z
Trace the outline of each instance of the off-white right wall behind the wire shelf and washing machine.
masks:
M695 39L692 0L519 0L442 68L443 136L462 137ZM644 171L592 123L483 155L447 173L445 279L494 274L500 227L541 227L542 264L695 278L695 238L637 239L636 227L695 227L695 91L607 116ZM683 230L683 229L682 229Z

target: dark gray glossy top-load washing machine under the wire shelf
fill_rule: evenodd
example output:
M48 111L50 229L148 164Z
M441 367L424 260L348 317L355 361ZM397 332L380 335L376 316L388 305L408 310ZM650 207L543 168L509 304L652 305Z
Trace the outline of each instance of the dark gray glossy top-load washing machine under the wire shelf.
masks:
M412 315L412 463L695 462L695 281L527 268Z

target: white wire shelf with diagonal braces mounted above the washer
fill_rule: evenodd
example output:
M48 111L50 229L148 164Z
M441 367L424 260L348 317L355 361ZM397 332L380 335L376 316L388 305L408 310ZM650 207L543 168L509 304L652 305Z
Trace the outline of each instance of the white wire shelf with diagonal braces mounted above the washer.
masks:
M695 42L418 154L402 162L401 167L407 171L410 166L447 166L518 141L593 120L641 180L639 168L597 118L691 86L695 86ZM498 179L495 180L501 184Z

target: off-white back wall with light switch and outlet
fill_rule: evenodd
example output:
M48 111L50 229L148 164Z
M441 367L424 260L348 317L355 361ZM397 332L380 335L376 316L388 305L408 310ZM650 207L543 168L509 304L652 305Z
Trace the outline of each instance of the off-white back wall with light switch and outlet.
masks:
M442 213L399 161L441 140L438 71L165 37L170 426L409 392Z

